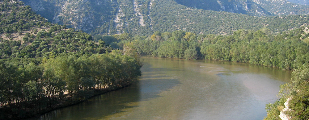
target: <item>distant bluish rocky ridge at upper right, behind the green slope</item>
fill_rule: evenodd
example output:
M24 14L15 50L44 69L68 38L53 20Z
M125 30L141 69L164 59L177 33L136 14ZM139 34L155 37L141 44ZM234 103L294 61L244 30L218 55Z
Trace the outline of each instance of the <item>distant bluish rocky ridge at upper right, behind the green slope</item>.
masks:
M287 0L175 0L197 9L227 11L253 16L309 14L309 8ZM293 0L290 0L293 1ZM296 1L296 0L294 0Z

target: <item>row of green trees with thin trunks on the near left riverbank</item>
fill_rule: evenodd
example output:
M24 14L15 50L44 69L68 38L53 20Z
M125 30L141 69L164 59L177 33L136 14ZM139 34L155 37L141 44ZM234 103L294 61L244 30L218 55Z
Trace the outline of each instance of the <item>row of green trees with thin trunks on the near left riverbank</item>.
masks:
M103 90L128 86L141 75L141 64L121 51L76 54L17 65L1 62L1 119L26 118L83 101ZM104 91L103 91L104 92ZM99 92L100 93L100 92Z

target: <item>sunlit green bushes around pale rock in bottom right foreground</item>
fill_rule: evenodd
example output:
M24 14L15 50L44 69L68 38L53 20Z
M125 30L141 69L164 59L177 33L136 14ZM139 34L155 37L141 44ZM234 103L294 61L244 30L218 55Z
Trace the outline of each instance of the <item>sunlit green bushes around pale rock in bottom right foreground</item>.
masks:
M289 119L309 119L308 85L309 66L301 66L292 72L291 82L280 86L280 99L266 105L266 120L279 120L280 112L283 112ZM284 110L284 103L287 102L290 110Z

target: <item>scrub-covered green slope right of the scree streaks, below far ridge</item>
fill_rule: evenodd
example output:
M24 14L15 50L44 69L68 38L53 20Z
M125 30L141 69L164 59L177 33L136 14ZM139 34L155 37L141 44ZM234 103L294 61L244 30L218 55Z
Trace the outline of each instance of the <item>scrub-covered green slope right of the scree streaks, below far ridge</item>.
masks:
M258 30L262 27L272 32L286 31L308 22L308 16L254 17L245 14L191 9L173 1L155 1L150 10L156 31L184 30L204 34L231 34L239 29ZM169 5L169 6L166 6ZM171 12L176 11L177 12ZM164 22L161 22L164 21ZM164 27L163 27L164 26Z

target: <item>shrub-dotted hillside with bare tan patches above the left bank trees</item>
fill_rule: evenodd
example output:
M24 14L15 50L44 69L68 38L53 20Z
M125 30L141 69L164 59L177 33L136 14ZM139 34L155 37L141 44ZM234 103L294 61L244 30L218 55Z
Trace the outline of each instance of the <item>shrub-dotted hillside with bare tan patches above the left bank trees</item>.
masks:
M105 53L91 35L52 24L20 1L1 1L0 59L57 56L63 52ZM91 44L86 47L85 44Z

